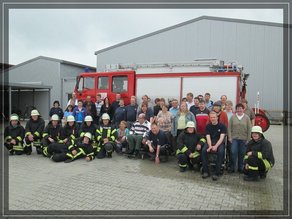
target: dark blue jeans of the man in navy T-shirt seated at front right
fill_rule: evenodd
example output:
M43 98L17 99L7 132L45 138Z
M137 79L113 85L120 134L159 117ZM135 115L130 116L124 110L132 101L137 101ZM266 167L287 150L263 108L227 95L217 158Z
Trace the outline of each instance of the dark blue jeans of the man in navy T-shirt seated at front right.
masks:
M208 148L209 148L208 144L205 143L205 145L202 148L201 159L202 159L202 164L203 164L203 172L210 174L210 170L208 168L208 157L207 157L207 155L208 155L207 149ZM214 152L215 151L213 151L213 150L211 151L211 153L214 153ZM217 175L217 176L220 175L221 166L222 166L223 161L224 161L224 154L225 154L224 144L221 143L221 145L219 145L217 148L216 168L215 168L213 175Z

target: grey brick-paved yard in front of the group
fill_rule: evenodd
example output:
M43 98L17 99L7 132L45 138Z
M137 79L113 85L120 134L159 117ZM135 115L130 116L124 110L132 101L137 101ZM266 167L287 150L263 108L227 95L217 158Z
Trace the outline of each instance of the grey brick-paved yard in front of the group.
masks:
M114 153L111 159L87 162L82 158L65 164L37 155L33 148L30 156L9 156L10 214L22 210L49 210L52 215L105 210L108 216L107 210L126 211L125 215L135 215L128 210L170 214L170 210L283 210L283 128L274 125L264 133L273 145L275 165L267 179L258 183L244 182L244 175L227 171L218 181L202 179L197 168L181 173L174 156L168 163L155 164L147 157Z

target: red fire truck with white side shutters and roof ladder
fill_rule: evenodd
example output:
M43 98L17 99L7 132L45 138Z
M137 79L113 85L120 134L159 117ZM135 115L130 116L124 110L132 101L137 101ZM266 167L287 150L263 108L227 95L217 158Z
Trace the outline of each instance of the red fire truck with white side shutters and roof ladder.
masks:
M137 97L139 104L142 96L147 94L154 104L157 97L164 97L165 100L173 97L180 102L189 92L194 96L208 92L211 100L220 100L224 94L235 106L240 99L245 98L248 76L236 61L224 64L217 59L115 64L106 65L105 72L81 73L77 77L75 92L78 99L86 101L86 97L90 95L93 102L96 101L96 93L100 93L102 99L109 97L112 102L119 92L126 105L132 95ZM263 120L266 118L261 119Z

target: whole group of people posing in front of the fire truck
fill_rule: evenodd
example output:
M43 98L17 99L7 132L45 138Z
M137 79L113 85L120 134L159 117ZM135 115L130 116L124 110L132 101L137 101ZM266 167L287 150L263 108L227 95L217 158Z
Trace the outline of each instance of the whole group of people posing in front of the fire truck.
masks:
M228 145L228 173L235 172L238 160L237 171L247 175L245 181L265 178L274 165L273 149L261 128L255 126L255 113L247 106L247 100L242 99L234 111L226 95L216 102L210 96L206 93L204 98L194 98L187 93L180 104L172 97L167 99L168 104L164 98L156 98L155 106L147 95L143 95L140 105L131 96L130 104L125 106L120 93L111 104L108 97L102 101L99 93L95 103L90 96L83 103L73 93L65 113L59 102L54 102L51 121L46 126L37 110L32 110L25 128L18 115L11 115L10 125L4 131L4 145L9 155L30 155L33 144L37 154L66 163L84 156L87 161L106 155L111 158L113 151L123 154L123 148L127 148L124 155L138 156L143 149L156 164L161 157L162 162L167 162L169 155L175 155L181 172L187 166L193 169L194 164L202 165L204 179L211 175L208 154L216 153L213 180L219 179Z

